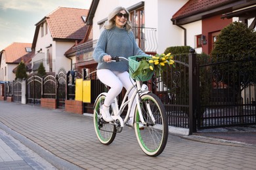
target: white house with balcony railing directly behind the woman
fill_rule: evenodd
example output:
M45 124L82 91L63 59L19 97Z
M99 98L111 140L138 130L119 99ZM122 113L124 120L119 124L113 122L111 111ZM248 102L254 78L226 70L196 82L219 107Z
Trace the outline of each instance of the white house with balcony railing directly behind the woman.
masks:
M104 29L103 26L108 20L108 14L118 6L129 10L135 39L140 48L147 54L163 53L168 46L176 46L177 42L182 44L182 40L175 33L179 27L173 25L170 18L184 3L186 0L112 0L111 3L93 0L86 19L86 24L93 27L93 40L75 48L77 58L83 54L83 51L89 52L91 50L93 52L100 33ZM81 63L77 63L77 67L86 67L90 73L96 69L93 58L85 57Z

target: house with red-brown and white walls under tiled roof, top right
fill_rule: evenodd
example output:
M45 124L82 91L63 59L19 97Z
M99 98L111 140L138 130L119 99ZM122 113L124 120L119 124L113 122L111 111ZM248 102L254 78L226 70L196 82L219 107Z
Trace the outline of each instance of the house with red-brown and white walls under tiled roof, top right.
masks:
M210 54L221 29L234 21L255 29L256 1L189 0L171 18L182 45ZM179 43L177 43L178 45ZM181 45L181 44L179 44Z

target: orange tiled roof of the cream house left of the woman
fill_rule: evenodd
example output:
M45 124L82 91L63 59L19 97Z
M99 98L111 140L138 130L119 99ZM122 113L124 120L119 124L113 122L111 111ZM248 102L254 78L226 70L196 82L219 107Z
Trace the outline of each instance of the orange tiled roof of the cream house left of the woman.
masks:
M81 16L87 16L89 10L58 7L46 16L53 39L83 39L87 25Z

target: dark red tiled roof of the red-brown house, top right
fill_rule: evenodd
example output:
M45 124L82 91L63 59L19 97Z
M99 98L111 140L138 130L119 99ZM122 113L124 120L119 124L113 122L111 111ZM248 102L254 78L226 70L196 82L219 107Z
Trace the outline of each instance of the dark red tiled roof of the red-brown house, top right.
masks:
M189 0L181 9L179 9L173 18L179 18L184 16L190 16L192 14L200 13L205 10L219 7L226 3L233 2L235 0Z

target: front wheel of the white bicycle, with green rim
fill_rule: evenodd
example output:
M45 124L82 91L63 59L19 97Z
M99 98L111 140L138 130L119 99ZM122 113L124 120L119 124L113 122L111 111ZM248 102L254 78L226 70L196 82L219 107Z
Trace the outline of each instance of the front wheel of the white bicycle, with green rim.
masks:
M163 152L168 139L168 122L165 108L153 93L140 96L140 108L146 126L141 128L138 107L135 112L135 134L140 148L148 156L158 156Z

